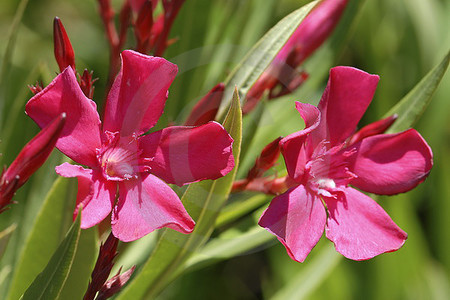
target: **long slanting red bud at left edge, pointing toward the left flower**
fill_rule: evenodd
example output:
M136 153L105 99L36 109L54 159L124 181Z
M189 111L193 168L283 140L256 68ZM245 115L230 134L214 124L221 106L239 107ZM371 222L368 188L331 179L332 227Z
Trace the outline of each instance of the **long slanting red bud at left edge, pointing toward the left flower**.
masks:
M0 179L0 212L5 209L19 189L48 158L61 134L66 121L62 113L47 127L41 130L23 147Z

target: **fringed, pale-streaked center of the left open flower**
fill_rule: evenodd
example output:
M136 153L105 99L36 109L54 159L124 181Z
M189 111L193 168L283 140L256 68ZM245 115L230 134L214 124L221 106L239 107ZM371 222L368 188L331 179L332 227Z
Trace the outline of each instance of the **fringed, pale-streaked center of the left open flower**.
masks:
M137 178L141 172L149 172L147 163L151 160L142 158L138 148L137 137L119 137L118 133L107 132L107 142L97 151L97 157L108 180L123 181Z

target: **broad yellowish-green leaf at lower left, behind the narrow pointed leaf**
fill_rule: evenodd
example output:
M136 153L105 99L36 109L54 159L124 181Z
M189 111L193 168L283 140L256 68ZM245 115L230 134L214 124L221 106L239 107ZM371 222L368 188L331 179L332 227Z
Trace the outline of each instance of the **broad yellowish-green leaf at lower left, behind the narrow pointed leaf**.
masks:
M47 194L17 261L7 299L19 299L58 247L63 234L64 202L69 182L58 178Z

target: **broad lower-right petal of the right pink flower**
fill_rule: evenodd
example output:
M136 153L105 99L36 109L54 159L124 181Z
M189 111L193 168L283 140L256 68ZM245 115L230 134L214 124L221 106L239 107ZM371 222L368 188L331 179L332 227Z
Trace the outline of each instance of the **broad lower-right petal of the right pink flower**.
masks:
M336 251L353 260L365 260L398 250L407 238L388 214L370 197L343 188L339 200L325 198L328 221L325 230Z

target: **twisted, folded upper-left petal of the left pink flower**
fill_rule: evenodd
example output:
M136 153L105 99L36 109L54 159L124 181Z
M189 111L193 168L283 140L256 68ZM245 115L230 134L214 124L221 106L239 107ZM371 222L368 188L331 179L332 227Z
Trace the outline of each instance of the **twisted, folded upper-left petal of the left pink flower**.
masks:
M42 92L28 101L26 113L43 128L61 113L66 124L56 147L74 161L94 167L100 147L100 118L95 102L86 98L72 68L67 67Z

